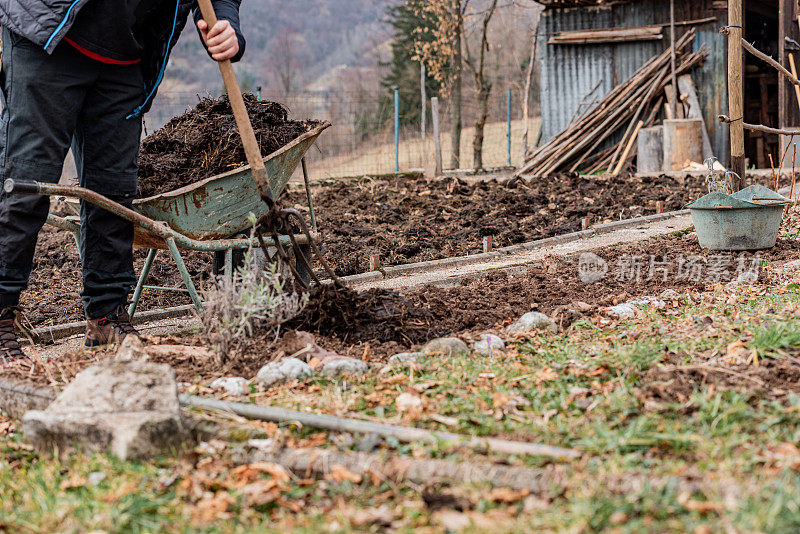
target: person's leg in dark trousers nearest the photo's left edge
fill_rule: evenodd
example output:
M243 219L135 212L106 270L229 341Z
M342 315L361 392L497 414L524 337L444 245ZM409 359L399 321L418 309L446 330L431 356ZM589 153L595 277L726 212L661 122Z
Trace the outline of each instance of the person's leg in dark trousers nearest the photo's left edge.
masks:
M49 56L2 32L0 180L57 182L94 74L63 47ZM49 206L47 197L0 192L0 310L16 306L28 285Z

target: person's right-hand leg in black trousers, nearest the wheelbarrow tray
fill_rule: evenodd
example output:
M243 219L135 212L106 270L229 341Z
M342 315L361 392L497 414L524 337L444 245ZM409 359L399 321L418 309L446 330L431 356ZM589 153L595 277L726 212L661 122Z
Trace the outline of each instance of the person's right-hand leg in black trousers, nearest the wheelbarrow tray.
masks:
M137 191L141 104L139 65L102 65L75 130L73 153L81 185L126 206ZM136 284L133 224L88 203L81 206L83 297L87 320L115 314Z

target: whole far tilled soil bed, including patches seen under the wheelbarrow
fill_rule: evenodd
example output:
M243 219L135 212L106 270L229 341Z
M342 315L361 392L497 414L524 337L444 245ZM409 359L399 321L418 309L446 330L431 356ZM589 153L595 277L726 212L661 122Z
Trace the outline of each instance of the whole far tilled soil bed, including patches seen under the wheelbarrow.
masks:
M580 230L587 215L599 222L655 213L658 200L665 202L665 209L678 209L703 188L702 179L689 177L562 176L505 184L404 177L318 184L313 195L324 253L346 275L368 270L373 254L380 254L385 265L466 255L481 252L486 235L501 247ZM304 191L290 193L286 205L291 204L304 205ZM137 252L137 269L144 257L143 251ZM210 281L210 254L185 254L185 261L197 284ZM156 261L152 277L151 285L182 287L166 252ZM83 320L80 290L72 236L45 227L23 297L31 324ZM188 303L185 294L148 291L140 309Z

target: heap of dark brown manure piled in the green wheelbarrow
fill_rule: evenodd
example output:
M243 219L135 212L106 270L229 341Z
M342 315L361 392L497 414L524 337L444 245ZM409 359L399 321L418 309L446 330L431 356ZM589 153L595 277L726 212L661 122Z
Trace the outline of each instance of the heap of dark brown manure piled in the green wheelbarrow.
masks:
M259 101L250 94L244 101L265 157L319 125L289 120L289 110L277 102ZM246 164L228 97L203 98L142 142L139 194L147 198L174 191Z

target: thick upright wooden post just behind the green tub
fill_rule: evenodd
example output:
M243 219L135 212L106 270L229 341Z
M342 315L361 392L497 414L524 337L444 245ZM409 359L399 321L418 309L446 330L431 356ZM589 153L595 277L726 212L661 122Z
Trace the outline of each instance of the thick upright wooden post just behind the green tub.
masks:
M731 162L729 168L739 178L733 178L733 192L745 185L744 166L744 57L742 56L742 0L728 1L728 113L733 119L731 132Z

